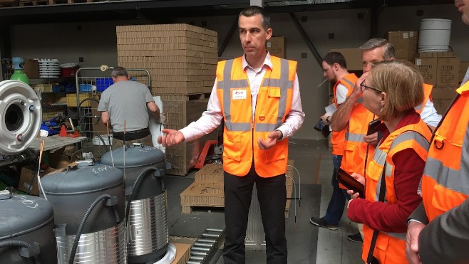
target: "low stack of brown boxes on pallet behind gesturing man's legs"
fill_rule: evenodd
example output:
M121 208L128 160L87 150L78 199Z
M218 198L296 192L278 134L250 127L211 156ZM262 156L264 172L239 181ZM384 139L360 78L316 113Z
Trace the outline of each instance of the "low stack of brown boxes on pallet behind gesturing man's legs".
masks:
M287 167L287 204L285 205L285 218L289 216L293 193L293 160L289 160ZM223 165L205 164L202 169L195 173L195 181L190 184L182 193L181 208L182 213L190 213L195 206L225 207L225 194L223 191Z

